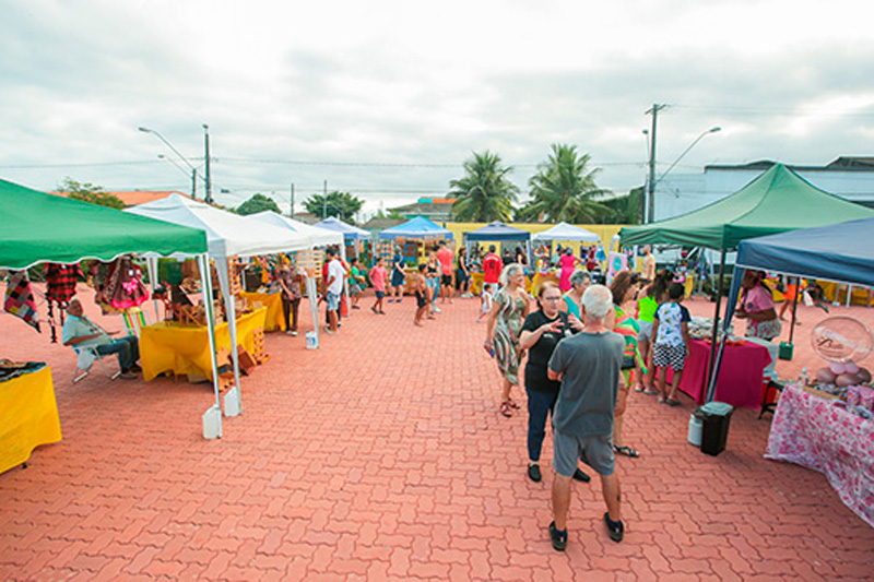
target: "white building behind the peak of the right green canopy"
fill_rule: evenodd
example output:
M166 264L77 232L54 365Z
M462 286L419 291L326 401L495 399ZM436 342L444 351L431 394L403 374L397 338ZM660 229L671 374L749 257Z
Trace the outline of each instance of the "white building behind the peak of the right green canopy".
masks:
M705 166L701 174L669 174L656 185L656 219L662 221L733 194L775 162ZM826 192L874 207L874 157L839 157L827 166L791 166Z

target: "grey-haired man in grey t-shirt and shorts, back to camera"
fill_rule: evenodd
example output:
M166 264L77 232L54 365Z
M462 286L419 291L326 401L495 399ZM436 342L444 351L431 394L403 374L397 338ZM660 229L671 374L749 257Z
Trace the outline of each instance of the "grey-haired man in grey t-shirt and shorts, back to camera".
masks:
M548 377L562 380L553 415L553 547L567 547L567 510L570 482L577 460L601 476L607 512L604 523L610 538L621 542L625 526L619 511L619 479L614 471L613 412L619 383L625 340L610 330L613 295L603 285L592 285L582 295L584 330L563 340L550 359Z

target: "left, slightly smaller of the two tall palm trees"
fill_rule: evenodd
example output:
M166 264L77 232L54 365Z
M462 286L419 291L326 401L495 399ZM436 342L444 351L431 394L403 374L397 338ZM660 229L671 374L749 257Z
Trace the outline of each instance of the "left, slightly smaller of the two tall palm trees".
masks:
M464 162L464 177L451 180L449 195L456 198L452 204L454 219L461 222L491 223L510 219L512 203L519 194L519 187L507 175L510 166L500 165L500 156L487 150Z

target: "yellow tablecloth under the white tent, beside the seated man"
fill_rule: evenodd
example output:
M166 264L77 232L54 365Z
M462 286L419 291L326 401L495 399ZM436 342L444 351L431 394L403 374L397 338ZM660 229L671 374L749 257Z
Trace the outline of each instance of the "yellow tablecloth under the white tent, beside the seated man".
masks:
M264 326L267 307L237 318L237 343L251 353L255 331ZM215 328L216 349L231 349L227 323ZM140 364L147 382L164 372L212 378L210 337L206 328L162 321L146 325L140 333Z

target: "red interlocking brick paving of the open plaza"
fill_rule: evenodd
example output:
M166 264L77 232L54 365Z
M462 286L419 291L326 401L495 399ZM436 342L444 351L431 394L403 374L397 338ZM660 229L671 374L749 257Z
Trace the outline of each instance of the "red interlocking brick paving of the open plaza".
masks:
M575 484L568 549L554 551L551 471L528 480L527 415L498 414L479 301L457 300L424 329L411 298L387 316L362 305L318 351L303 334L269 334L272 359L244 378L244 415L225 419L221 440L201 436L204 384L99 373L73 384L70 348L0 316L0 356L51 366L63 430L0 475L0 579L874 577L874 528L819 473L763 458L770 417L736 411L713 458L686 441L687 397L672 408L637 393L625 426L641 458L617 460L625 541L606 535L595 479ZM874 323L874 309L832 312ZM807 333L824 317L800 309L781 376L818 366ZM547 436L544 468L551 450Z

